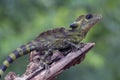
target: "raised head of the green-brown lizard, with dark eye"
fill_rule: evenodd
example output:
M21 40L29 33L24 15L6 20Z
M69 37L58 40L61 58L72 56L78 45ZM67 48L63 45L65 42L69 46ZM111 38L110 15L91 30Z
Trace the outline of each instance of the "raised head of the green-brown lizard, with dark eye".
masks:
M79 31L85 36L90 28L100 21L101 18L100 14L81 15L70 25L70 28L73 31Z

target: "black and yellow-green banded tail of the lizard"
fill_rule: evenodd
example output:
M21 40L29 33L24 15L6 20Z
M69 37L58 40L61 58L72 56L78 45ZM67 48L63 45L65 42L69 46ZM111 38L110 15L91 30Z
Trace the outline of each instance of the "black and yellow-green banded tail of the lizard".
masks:
M14 50L4 61L2 66L0 67L0 78L6 69L10 66L10 64L15 61L17 58L30 53L33 50L36 50L35 42L30 42L27 45L22 45L21 47Z

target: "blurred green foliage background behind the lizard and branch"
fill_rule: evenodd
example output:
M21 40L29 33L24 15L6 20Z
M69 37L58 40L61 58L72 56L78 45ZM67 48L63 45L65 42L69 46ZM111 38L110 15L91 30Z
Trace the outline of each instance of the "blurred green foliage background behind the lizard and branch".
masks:
M99 13L103 19L83 42L95 42L85 60L56 80L120 80L120 0L0 0L0 63L14 49L48 29L69 25L81 14ZM22 74L28 55L6 73Z

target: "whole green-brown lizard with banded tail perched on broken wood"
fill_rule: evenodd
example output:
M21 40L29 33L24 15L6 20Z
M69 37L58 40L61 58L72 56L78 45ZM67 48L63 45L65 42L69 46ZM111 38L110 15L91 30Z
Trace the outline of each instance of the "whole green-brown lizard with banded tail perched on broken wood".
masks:
M70 24L69 29L60 27L42 32L34 40L20 46L8 55L0 67L0 77L11 63L31 51L38 50L40 53L44 54L41 61L44 65L48 65L45 63L45 59L53 54L53 50L61 50L68 48L69 46L79 49L79 43L81 43L88 31L98 23L101 18L102 16L100 14L80 15L72 24Z

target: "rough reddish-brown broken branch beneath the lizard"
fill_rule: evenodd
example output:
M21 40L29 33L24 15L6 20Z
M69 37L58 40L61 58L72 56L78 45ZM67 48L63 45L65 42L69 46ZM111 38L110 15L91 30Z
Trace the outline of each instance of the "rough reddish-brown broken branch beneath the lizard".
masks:
M55 52L50 57L50 60L53 60L53 62L49 65L48 69L44 69L39 65L39 52L33 51L30 54L30 63L23 76L19 77L15 73L10 72L5 77L5 80L54 80L65 69L83 61L86 53L94 45L94 43L87 43L80 50L72 50L67 55L63 55L58 51Z

